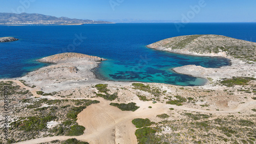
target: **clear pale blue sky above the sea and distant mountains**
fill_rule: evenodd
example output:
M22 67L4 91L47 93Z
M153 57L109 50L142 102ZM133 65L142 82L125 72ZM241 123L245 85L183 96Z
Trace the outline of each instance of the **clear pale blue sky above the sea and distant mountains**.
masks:
M193 10L192 7L197 9ZM0 12L40 13L94 20L256 22L255 8L255 0L0 0Z

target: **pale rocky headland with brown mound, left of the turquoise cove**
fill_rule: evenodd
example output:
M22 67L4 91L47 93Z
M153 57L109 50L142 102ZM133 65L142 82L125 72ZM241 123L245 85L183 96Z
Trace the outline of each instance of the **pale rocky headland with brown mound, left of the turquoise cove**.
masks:
M79 53L56 54L37 60L44 63L53 63L52 65L32 71L21 79L49 91L66 89L68 88L67 85L78 87L84 82L99 81L92 69L104 60L106 59Z

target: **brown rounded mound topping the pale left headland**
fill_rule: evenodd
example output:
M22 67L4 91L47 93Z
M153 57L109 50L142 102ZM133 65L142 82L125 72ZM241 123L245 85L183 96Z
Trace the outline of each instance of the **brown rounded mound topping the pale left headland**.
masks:
M39 62L46 62L46 63L59 63L67 60L87 60L87 61L103 61L106 59L96 57L96 56L89 56L79 53L61 53L52 55L49 57L38 59Z

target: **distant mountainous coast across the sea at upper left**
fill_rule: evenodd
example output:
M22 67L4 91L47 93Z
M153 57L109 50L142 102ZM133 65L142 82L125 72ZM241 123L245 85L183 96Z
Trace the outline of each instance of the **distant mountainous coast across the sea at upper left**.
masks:
M84 20L68 17L55 17L43 14L28 14L28 13L0 13L0 25L42 25L42 24L59 24L59 25L72 25L72 24L86 24L86 23L113 23L109 21L94 21Z

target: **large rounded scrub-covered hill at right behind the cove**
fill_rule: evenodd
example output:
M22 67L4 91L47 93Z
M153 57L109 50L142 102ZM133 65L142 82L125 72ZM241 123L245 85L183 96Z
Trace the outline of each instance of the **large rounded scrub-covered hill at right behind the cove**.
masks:
M178 54L252 58L256 56L256 43L221 35L187 35L167 38L147 45L148 48Z

